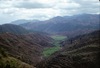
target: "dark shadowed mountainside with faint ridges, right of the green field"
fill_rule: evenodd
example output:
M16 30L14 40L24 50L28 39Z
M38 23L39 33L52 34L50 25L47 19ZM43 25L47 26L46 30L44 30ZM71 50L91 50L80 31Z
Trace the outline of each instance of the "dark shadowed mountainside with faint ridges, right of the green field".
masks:
M100 30L70 38L37 68L100 68Z

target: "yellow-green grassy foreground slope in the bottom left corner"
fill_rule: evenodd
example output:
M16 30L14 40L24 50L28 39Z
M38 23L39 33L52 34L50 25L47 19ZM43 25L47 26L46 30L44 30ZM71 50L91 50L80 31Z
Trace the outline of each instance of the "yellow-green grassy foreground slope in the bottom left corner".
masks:
M11 57L0 47L0 68L35 68L25 62Z

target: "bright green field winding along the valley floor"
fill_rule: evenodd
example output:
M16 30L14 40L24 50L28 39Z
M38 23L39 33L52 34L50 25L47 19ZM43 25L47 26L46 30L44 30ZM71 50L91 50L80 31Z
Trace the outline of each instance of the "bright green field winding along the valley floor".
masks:
M60 44L59 44L60 41L63 41L67 37L61 36L61 35L54 35L54 36L51 36L51 38L54 39L54 41L52 42L54 47L45 48L44 51L43 51L44 57L49 57L50 55L52 55L56 51L59 51L61 49Z

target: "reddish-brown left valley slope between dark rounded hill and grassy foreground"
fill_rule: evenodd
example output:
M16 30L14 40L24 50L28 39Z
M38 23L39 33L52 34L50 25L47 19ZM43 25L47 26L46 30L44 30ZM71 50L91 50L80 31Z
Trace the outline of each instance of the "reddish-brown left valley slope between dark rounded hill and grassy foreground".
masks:
M50 37L40 34L0 34L0 48L4 48L9 55L31 65L41 61L42 49L51 46L51 41Z

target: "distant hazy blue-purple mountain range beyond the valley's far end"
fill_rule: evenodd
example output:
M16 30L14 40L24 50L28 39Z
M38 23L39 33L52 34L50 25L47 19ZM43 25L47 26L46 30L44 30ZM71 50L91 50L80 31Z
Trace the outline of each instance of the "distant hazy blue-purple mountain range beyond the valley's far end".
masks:
M47 33L56 33L67 36L85 34L99 29L99 14L81 14L74 16L54 17L46 21L22 24L21 26Z

